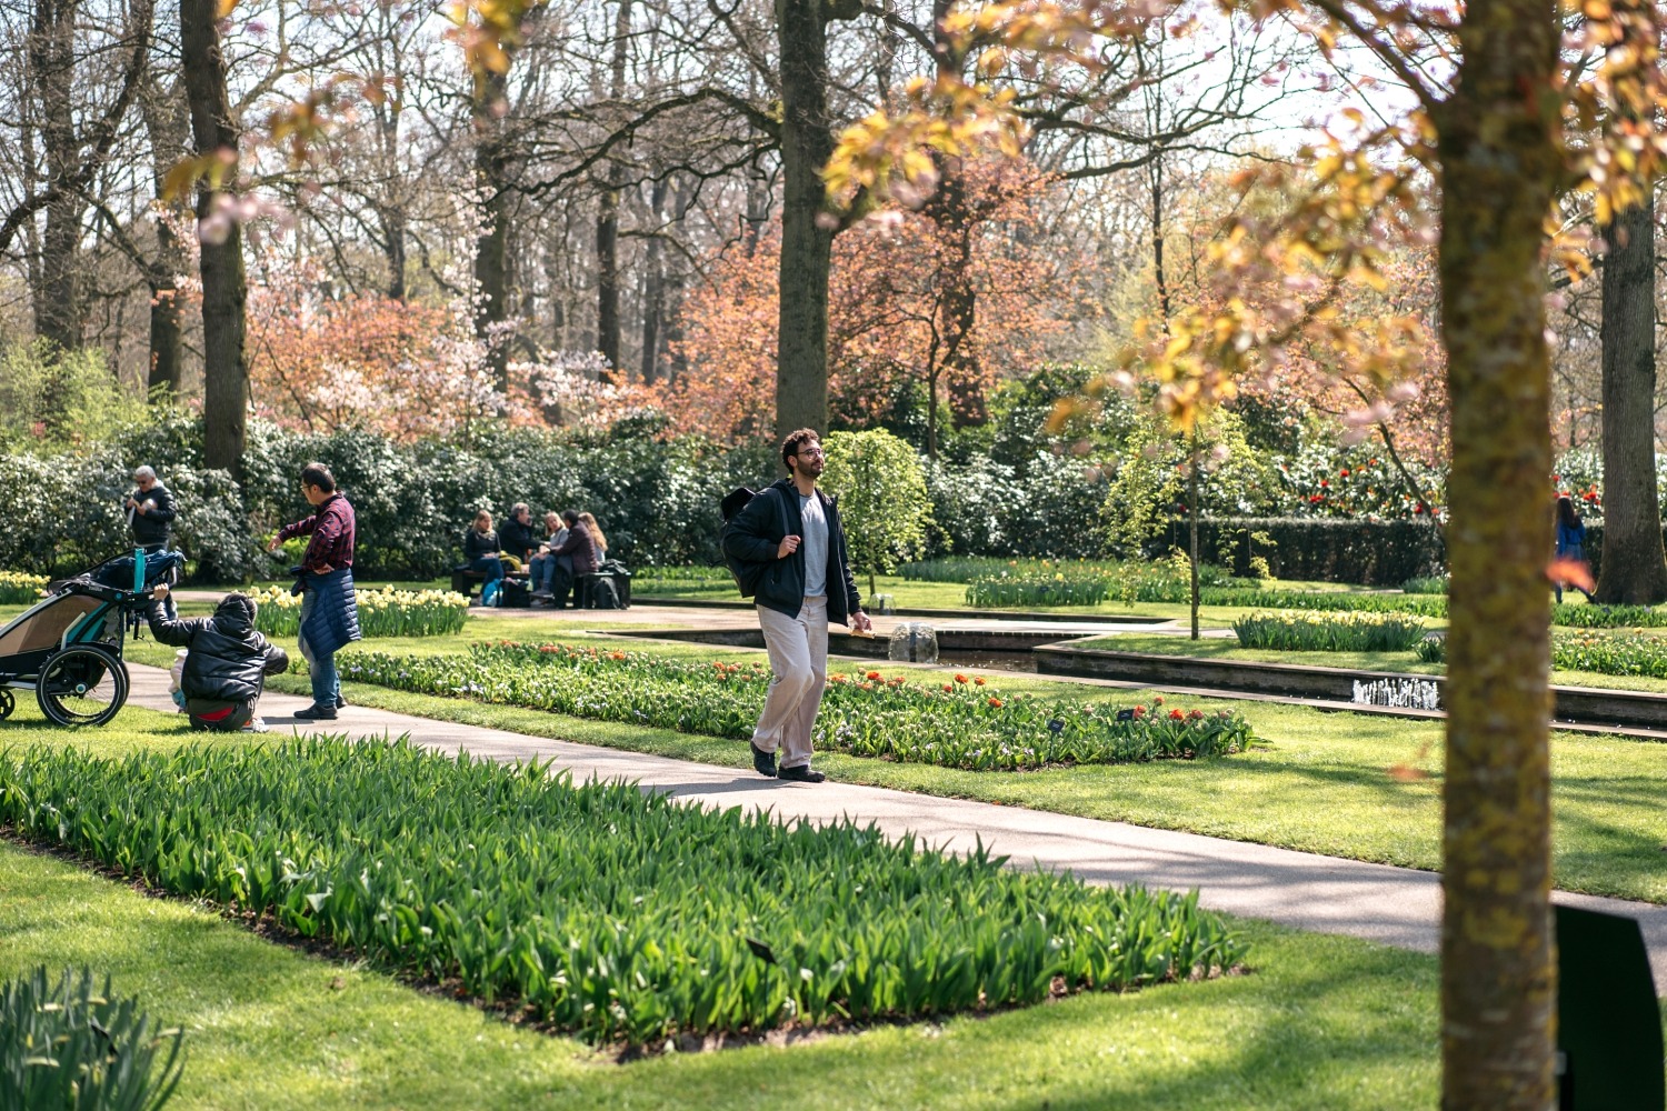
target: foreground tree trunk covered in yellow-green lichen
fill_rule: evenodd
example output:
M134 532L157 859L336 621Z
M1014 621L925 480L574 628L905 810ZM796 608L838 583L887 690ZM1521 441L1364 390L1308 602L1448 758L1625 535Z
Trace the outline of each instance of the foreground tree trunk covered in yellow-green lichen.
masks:
M1540 252L1562 173L1555 2L1472 0L1459 40L1455 92L1435 120L1454 441L1442 1108L1547 1111L1557 991Z

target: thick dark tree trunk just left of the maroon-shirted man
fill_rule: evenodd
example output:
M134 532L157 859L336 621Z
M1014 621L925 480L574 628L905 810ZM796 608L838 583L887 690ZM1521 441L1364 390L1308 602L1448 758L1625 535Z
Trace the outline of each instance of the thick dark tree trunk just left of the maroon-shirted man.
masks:
M180 0L180 55L192 135L198 155L227 158L223 183L237 182L238 128L225 88L220 53L218 0ZM198 227L210 223L220 188L205 178L197 192ZM203 465L242 476L248 428L248 361L243 351L245 301L243 230L232 220L223 238L202 243L203 286Z

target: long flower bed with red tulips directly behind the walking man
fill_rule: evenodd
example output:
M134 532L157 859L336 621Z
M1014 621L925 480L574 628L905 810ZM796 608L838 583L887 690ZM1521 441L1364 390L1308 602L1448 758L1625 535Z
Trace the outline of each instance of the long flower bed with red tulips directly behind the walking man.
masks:
M763 708L763 665L680 663L570 645L477 645L467 656L342 656L342 678L603 721L743 740ZM1004 696L982 676L920 683L880 671L830 675L822 748L854 756L1017 771L1067 763L1220 756L1250 745L1232 711Z

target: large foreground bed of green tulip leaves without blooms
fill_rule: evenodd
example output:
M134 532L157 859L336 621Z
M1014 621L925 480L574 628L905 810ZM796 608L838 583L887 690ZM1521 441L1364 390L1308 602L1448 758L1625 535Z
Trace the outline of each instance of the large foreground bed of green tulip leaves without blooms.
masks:
M0 821L603 1044L994 1009L1245 956L1195 894L405 740L33 746L0 760Z

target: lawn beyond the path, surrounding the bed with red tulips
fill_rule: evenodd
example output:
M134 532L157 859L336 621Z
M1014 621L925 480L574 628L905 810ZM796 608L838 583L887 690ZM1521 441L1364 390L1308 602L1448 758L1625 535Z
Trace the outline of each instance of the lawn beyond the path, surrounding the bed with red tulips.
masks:
M587 623L590 626L590 623ZM478 640L537 640L593 643L598 648L647 651L677 660L763 660L762 651L713 645L657 643L632 638L583 638L572 628L528 626L525 620L470 616L463 633L430 638L360 641L357 650L402 655L463 651ZM1149 636L1142 640L1165 641ZM1190 641L1184 641L1190 645ZM1232 645L1234 641L1219 641ZM1204 641L1217 645L1217 641ZM1295 655L1295 653L1292 653ZM173 650L155 641L132 645L137 663L167 665ZM300 663L293 666L300 668ZM910 680L945 681L954 671L882 663L835 661L842 666L879 666L882 673ZM1092 700L1134 705L1155 696L1034 675L985 673L992 690L1025 691L1039 698ZM1610 676L1602 676L1610 678ZM307 693L300 675L272 680L275 690ZM448 698L407 695L347 683L347 696L360 705L448 721L515 730L590 745L650 751L733 768L750 766L745 745L737 741L647 730L638 726L567 718L513 706L490 706ZM1054 768L1030 773L979 773L929 765L890 763L825 753L817 766L828 775L874 786L890 786L949 798L972 798L1055 813L1129 821L1159 830L1184 830L1209 836L1255 841L1309 853L1347 856L1407 868L1435 869L1440 861L1442 725L1349 713L1322 713L1302 706L1260 701L1184 700L1189 708L1242 711L1265 748L1214 761L1154 761L1120 766ZM32 700L20 700L40 716ZM1555 881L1569 891L1612 894L1667 903L1667 811L1660 783L1667 778L1667 745L1627 741L1579 733L1552 735L1552 805ZM3 733L0 733L3 738ZM1427 778L1402 781L1395 765L1417 766Z

